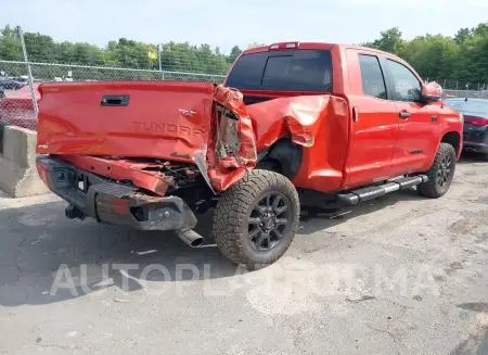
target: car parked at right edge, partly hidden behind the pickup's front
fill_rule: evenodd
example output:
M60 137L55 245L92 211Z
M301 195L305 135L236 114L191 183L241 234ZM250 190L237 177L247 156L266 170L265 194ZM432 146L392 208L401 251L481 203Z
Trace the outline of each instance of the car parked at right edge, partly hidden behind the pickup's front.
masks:
M444 102L464 116L463 149L488 159L488 100L455 98Z

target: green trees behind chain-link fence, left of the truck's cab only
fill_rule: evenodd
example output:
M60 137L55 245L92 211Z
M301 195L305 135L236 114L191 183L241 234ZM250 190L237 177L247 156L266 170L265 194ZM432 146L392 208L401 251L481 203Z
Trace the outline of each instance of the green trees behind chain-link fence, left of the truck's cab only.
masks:
M21 28L7 25L0 30L0 60L24 61ZM163 71L179 73L202 73L223 75L234 60L241 54L235 46L229 54L224 54L209 45L192 46L189 42L168 42L156 45L120 38L110 41L104 48L90 43L56 42L50 36L39 33L24 33L24 41L29 62L63 63L72 65L87 65L98 67L123 67L134 69L159 69L158 52L160 52L160 67ZM159 51L160 50L160 51ZM3 65L5 66L5 65ZM23 65L10 65L9 75L25 75ZM63 66L33 65L33 75L38 78L66 77L68 71L75 79L157 79L158 73L106 71L102 68L69 68ZM175 75L174 75L175 76ZM169 77L171 78L171 77ZM198 79L201 77L183 76L182 78Z

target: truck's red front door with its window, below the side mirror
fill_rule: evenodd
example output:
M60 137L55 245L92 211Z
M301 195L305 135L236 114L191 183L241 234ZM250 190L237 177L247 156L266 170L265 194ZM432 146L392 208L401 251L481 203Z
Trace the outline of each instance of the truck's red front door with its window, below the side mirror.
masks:
M435 127L442 113L436 105L420 102L422 81L404 64L385 60L391 78L393 101L398 114L398 139L391 160L391 175L428 168L439 138Z

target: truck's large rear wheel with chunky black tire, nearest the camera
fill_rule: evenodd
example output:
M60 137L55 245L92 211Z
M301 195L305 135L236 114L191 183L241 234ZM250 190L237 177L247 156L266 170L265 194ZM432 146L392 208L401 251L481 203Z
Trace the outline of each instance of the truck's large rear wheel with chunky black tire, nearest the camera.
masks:
M214 237L229 261L258 269L287 251L298 229L299 214L298 193L292 181L274 172L254 169L222 192L214 214Z

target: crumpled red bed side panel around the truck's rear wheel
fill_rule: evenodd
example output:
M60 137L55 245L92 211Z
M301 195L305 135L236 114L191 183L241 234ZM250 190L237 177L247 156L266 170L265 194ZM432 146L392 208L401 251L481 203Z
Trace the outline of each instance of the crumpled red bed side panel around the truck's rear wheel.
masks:
M293 181L297 187L330 191L341 186L349 136L344 99L299 96L245 106L241 92L220 86L214 100L239 116L241 137L239 155L219 162L208 172L217 190L235 183L255 166L257 151L283 137L304 147L301 167Z

